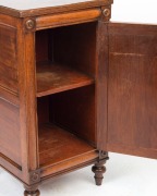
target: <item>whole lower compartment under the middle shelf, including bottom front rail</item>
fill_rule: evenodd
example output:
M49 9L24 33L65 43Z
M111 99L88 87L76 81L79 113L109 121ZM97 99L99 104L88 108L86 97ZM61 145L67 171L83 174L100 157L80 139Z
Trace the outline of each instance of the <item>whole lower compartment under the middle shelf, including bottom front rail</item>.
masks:
M94 85L38 98L37 108L41 169L51 174L98 157Z

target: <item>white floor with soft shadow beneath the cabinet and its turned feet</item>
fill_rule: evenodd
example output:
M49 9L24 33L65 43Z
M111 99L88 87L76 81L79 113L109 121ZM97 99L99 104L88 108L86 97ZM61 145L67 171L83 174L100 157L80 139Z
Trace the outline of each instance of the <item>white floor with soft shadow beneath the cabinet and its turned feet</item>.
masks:
M157 196L157 161L110 154L104 184L96 186L90 167L40 186L41 196ZM23 185L0 170L0 196L23 196Z

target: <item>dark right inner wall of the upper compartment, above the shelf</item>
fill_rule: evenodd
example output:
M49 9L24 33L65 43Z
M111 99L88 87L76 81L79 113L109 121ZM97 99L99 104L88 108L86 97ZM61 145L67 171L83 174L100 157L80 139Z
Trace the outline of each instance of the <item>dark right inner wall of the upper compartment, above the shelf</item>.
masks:
M95 76L96 23L57 28L53 40L55 61Z

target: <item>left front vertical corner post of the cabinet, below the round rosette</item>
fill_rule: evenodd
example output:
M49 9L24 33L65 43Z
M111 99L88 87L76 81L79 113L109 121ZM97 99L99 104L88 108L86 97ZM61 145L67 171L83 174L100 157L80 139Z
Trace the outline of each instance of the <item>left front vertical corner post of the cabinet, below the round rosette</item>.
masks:
M31 173L38 169L38 137L35 81L35 34L19 32L20 127L22 132L23 182L32 184Z

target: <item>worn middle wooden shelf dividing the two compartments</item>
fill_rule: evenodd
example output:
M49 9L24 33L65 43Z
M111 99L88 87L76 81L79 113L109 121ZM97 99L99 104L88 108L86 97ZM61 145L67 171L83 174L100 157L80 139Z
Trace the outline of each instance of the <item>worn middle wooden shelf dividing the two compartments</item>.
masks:
M94 78L65 65L37 63L37 97L94 84Z

